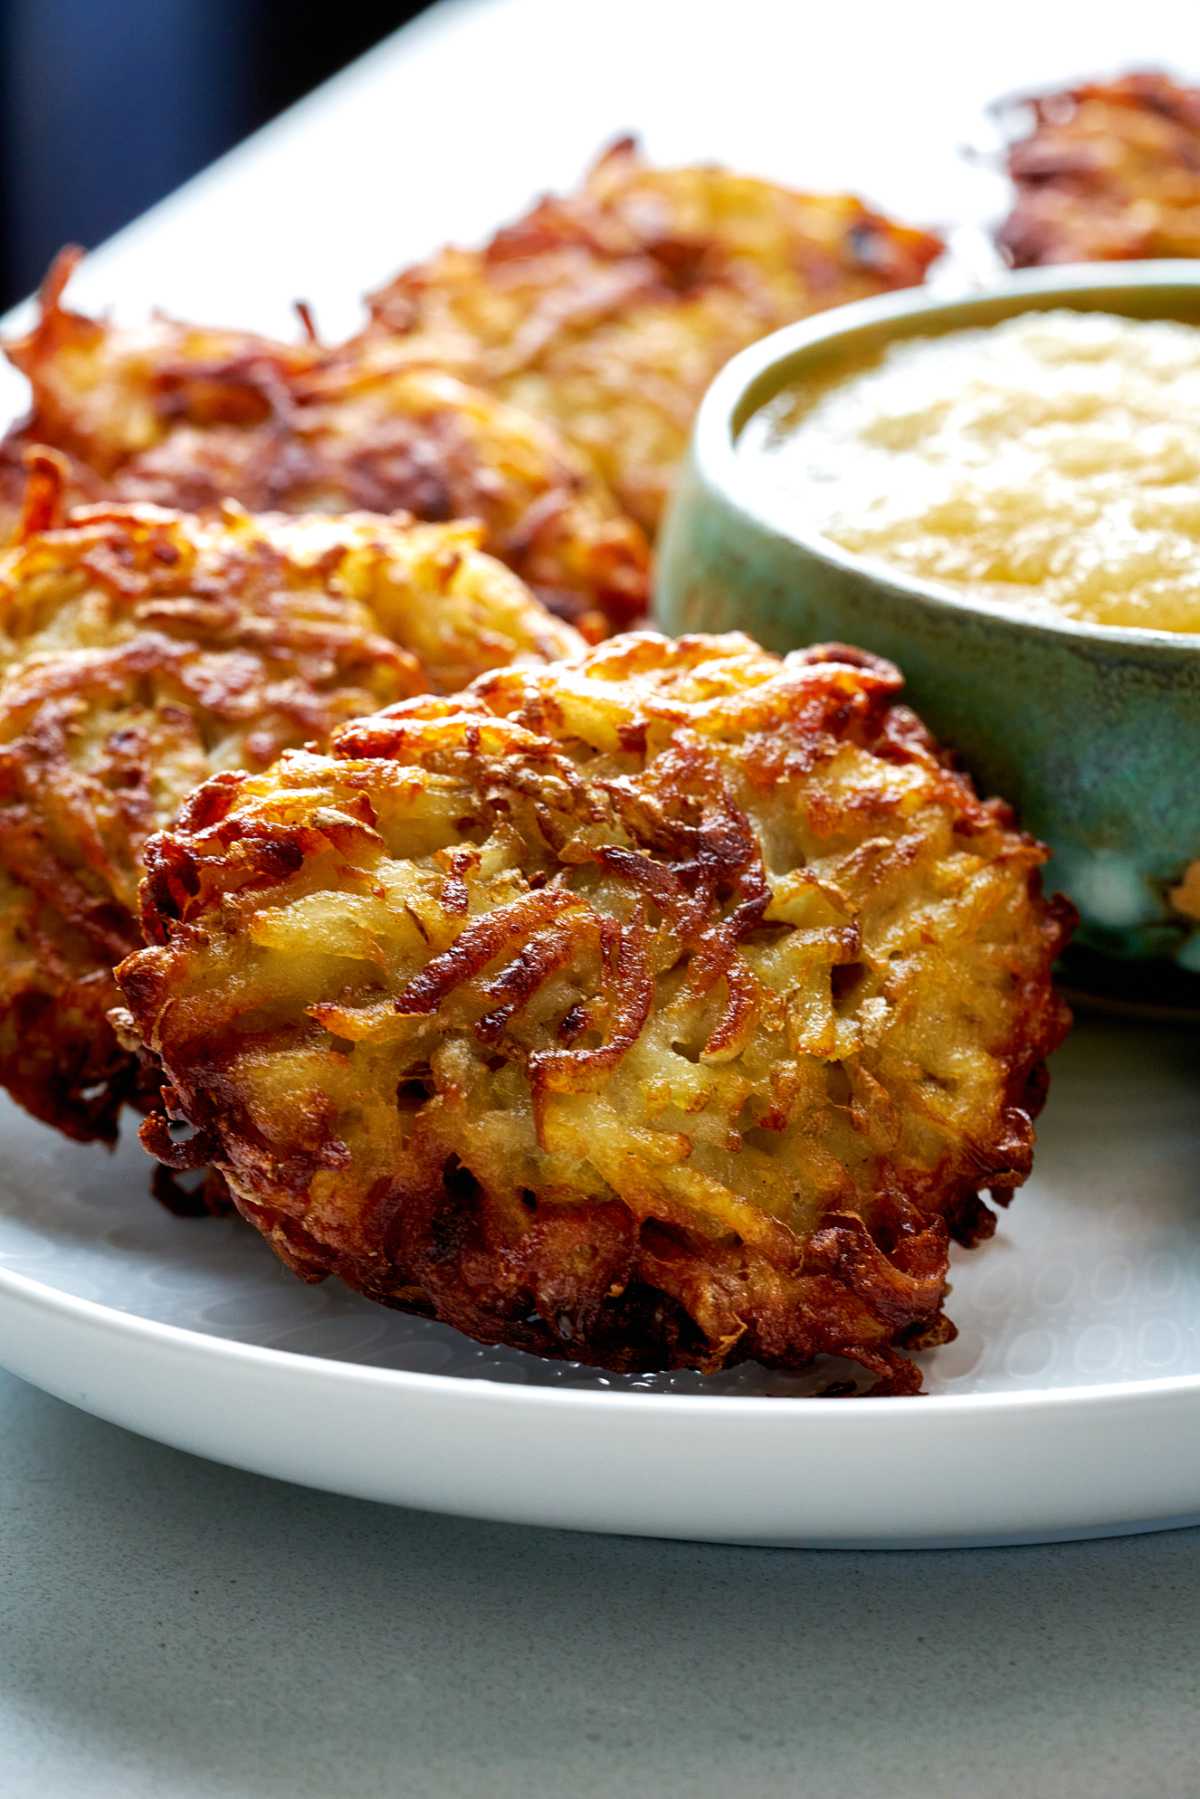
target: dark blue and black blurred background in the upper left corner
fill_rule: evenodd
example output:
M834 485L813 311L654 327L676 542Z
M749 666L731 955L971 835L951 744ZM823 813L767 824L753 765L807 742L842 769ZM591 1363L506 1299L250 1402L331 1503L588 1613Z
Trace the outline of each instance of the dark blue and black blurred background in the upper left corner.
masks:
M387 36L421 4L0 0L0 304Z

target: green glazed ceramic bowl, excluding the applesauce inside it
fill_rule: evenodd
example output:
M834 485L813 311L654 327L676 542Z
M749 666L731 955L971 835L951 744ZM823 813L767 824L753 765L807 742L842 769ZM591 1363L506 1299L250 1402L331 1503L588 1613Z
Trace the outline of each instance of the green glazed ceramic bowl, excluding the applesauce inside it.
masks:
M981 792L1011 801L1051 846L1047 882L1079 908L1074 979L1195 1006L1200 635L1045 622L972 603L822 538L804 493L781 506L761 462L738 453L747 419L799 378L858 367L900 338L1049 308L1200 324L1200 264L1043 270L952 300L910 290L808 318L736 356L696 417L660 547L657 613L667 631L741 630L774 649L846 642L889 657Z

